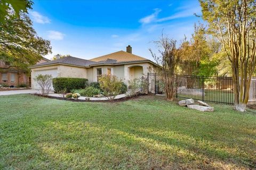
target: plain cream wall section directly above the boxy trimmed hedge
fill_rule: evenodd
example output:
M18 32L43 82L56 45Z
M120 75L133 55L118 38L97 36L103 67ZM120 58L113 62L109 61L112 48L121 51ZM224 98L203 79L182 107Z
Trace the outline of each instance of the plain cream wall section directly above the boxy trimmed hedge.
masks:
M87 78L87 72L84 67L59 65L58 73L58 77L62 78Z

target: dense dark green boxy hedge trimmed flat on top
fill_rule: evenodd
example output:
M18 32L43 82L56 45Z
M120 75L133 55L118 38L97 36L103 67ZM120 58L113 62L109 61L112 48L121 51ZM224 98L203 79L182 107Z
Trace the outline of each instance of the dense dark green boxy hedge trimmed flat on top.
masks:
M54 78L52 85L55 92L66 89L70 92L72 89L84 89L87 87L87 79L82 78Z

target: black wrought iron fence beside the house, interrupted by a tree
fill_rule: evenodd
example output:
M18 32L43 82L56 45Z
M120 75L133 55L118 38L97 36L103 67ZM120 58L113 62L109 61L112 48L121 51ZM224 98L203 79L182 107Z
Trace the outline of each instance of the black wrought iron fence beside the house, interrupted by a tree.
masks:
M177 75L175 80L177 98L193 98L209 103L234 104L231 77ZM148 92L155 95L164 95L162 74L148 74Z

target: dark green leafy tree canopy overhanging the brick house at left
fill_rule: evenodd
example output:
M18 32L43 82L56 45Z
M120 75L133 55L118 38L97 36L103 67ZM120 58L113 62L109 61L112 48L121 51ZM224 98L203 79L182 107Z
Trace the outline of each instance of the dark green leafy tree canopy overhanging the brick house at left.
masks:
M11 66L26 70L36 64L43 55L51 53L49 40L37 36L29 17L22 13L20 18L12 18L0 24L0 60Z

